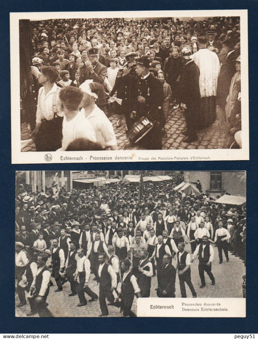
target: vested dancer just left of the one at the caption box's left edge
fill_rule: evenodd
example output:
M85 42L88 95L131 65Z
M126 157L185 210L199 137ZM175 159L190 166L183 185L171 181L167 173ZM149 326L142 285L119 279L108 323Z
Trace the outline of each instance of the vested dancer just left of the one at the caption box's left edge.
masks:
M108 315L108 308L106 304L106 298L111 304L114 304L114 296L112 292L116 287L116 274L113 271L111 265L106 263L107 255L102 253L99 255L99 268L98 268L98 281L100 283L100 309L101 314L99 317L105 317Z

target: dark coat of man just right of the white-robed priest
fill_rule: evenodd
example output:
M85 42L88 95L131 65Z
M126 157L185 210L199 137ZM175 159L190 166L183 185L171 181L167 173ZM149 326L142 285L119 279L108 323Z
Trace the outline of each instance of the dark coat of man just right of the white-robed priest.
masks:
M228 57L225 58L220 67L217 86L217 98L222 108L225 108L226 99L229 95L231 79L236 73L236 57L236 52L232 52Z

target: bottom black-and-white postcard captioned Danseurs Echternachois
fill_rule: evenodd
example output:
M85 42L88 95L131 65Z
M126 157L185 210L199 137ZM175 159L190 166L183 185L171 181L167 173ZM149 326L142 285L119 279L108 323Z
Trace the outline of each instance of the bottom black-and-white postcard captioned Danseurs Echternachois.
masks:
M244 171L17 171L15 204L16 317L244 303Z

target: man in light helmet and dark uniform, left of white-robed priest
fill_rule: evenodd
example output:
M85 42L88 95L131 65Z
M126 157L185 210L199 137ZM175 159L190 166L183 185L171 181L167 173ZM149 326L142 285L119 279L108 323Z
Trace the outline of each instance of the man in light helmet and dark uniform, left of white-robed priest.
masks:
M182 69L181 75L181 106L186 106L186 137L184 142L191 142L198 140L197 138L197 121L200 109L200 88L199 76L200 71L198 66L191 60L192 52L189 47L182 48L181 56L185 59L185 66Z

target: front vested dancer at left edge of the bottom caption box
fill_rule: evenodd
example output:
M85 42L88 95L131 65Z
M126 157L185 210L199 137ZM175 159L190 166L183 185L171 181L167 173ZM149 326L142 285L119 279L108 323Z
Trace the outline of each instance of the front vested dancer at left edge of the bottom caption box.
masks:
M130 261L125 259L121 263L121 270L124 272L122 274L122 284L121 284L121 293L119 295L119 300L121 302L120 313L123 312L124 317L136 317L136 315L131 311L134 295L137 298L141 297L141 290L137 284L135 276L130 272Z

